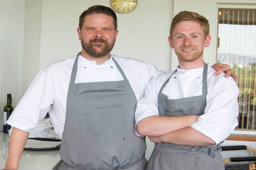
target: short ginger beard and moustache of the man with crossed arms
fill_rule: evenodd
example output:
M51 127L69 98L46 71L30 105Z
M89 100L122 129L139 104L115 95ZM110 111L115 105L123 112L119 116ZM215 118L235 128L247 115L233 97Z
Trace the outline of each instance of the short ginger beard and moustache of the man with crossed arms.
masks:
M182 49L182 48L184 48L184 47L181 47L180 49ZM197 48L194 46L193 47L190 46L187 48L194 48L195 50L197 50ZM191 55L191 54L179 52L179 51L181 51L180 49L178 50L178 53L176 55L178 56L178 59L182 62L193 62L193 61L199 59L203 55L203 50L202 50L202 51L194 52L194 54L191 57L186 57L186 55Z

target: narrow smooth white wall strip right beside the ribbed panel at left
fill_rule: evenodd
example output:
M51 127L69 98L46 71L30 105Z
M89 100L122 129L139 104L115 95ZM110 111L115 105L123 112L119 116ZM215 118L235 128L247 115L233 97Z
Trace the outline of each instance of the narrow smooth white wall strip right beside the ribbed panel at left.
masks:
M25 0L22 92L39 72L41 0Z

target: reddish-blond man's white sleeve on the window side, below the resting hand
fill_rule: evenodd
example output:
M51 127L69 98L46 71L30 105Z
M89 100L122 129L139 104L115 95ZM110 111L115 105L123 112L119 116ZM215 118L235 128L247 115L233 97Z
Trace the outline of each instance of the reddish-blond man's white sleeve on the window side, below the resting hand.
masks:
M239 90L232 78L221 77L208 87L205 113L191 127L213 139L216 144L225 140L238 125ZM210 84L211 85L211 84Z

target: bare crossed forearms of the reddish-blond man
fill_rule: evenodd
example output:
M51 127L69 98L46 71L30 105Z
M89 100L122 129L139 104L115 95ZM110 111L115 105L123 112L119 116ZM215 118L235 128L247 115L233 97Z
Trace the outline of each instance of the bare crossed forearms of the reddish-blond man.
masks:
M214 145L212 139L190 127L199 116L149 116L136 125L138 134L148 136L151 142L182 145Z

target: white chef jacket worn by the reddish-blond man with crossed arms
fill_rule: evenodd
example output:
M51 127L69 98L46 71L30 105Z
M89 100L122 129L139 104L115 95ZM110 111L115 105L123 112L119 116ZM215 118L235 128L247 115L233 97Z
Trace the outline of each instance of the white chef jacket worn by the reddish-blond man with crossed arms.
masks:
M157 95L163 83L171 73L162 73L150 80L145 91L145 97L137 103L135 125L148 116L159 115ZM215 69L208 64L207 96L205 112L198 121L191 125L204 135L213 139L216 144L226 139L238 125L239 90L232 77L225 78L225 73L213 77ZM180 69L170 78L162 93L168 99L180 99L202 95L203 67L191 70ZM135 133L138 132L135 129Z

